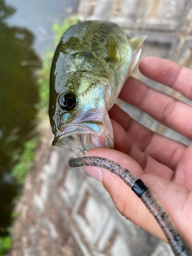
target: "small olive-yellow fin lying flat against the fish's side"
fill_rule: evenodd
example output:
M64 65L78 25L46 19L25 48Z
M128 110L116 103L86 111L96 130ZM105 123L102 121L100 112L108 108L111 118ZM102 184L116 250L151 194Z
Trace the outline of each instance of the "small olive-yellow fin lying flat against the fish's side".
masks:
M108 40L108 46L106 49L107 62L113 62L119 65L119 49L116 46L116 40L113 37L110 37Z

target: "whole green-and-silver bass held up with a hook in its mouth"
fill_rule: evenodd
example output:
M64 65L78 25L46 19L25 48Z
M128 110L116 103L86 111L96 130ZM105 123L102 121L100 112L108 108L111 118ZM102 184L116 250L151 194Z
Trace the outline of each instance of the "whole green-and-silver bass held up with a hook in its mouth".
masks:
M63 33L50 72L53 146L114 148L108 111L135 68L144 39L129 38L117 24L98 20Z

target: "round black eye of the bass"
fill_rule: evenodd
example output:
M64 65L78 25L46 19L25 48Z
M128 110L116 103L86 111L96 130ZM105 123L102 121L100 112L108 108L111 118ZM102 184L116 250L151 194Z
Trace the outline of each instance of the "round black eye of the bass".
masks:
M59 97L59 105L62 110L73 110L76 106L76 97L73 93L65 93Z

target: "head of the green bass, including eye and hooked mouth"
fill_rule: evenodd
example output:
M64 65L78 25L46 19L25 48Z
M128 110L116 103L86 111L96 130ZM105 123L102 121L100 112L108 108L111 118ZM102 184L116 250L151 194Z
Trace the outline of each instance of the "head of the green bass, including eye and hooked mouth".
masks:
M86 150L113 148L113 128L107 110L114 98L113 79L109 81L89 72L70 73L60 86L50 83L52 145L81 150L80 134Z

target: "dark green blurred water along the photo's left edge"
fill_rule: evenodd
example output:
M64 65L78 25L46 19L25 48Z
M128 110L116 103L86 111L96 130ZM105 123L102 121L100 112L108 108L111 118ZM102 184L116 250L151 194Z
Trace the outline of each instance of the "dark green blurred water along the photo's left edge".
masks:
M38 102L36 85L39 58L33 50L34 36L25 28L8 26L16 10L0 1L0 235L8 233L12 199L18 187L10 176L12 157L34 129ZM33 60L32 65L25 65Z

